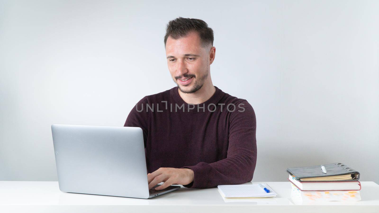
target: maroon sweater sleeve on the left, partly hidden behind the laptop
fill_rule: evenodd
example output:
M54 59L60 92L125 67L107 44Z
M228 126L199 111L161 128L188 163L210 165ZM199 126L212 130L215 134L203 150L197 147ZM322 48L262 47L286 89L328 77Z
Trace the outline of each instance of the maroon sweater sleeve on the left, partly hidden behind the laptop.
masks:
M149 123L149 114L146 110L146 104L147 97L145 96L133 107L124 124L124 127L139 127L142 129L145 148Z

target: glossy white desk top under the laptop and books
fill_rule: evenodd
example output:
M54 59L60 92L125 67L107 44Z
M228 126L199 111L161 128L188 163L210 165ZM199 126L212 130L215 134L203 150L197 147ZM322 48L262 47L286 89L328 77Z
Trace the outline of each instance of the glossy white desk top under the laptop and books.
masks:
M253 182L261 183L261 182ZM0 181L0 212L379 212L379 185L361 182L362 200L291 200L290 182L267 182L276 198L226 202L217 188L179 190L150 199L63 193L58 182Z

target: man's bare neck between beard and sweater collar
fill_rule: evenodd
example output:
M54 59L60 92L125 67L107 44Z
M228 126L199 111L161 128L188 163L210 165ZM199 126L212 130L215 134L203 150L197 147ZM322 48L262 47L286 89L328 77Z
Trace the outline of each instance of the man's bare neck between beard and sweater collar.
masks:
M204 103L210 99L213 94L215 94L215 86L210 82L204 84L198 91L194 93L183 93L179 89L179 96L184 100L184 102L189 104L199 104Z

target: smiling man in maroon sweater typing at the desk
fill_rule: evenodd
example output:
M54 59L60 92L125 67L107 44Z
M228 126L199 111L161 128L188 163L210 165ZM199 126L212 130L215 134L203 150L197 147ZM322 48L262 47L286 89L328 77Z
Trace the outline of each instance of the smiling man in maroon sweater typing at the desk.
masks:
M213 30L200 19L171 20L164 36L176 87L145 96L125 125L144 134L149 189L210 188L252 180L257 160L251 105L213 86Z

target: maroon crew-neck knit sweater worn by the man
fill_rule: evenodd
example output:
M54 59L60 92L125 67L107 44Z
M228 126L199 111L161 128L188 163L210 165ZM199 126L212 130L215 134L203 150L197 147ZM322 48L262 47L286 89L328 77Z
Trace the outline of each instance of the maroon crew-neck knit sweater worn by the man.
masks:
M188 188L252 180L257 161L254 110L217 87L199 105L185 103L178 87L145 96L124 126L142 128L149 173L160 167L192 169L194 180L184 185Z

